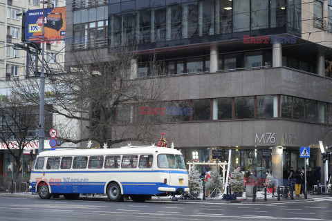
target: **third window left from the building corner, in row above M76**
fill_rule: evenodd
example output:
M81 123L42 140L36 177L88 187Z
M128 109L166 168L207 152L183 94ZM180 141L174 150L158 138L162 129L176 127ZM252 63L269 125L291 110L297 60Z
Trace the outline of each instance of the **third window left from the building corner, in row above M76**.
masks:
M232 98L213 99L212 119L232 119Z

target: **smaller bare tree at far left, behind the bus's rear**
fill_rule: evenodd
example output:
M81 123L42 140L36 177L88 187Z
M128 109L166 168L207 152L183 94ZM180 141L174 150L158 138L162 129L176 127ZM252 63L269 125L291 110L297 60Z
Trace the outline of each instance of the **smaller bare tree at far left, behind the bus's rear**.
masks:
M17 95L7 95L0 101L0 140L15 160L15 178L19 175L24 148L36 139L39 107ZM17 150L17 151L14 151Z

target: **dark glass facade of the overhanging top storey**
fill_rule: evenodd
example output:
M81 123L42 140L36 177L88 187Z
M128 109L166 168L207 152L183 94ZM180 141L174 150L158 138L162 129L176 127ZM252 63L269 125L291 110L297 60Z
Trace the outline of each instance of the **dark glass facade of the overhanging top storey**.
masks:
M299 35L300 20L300 0L110 1L109 46L135 42L159 48L172 45L165 41L190 44L185 39L280 27L291 29L279 33Z

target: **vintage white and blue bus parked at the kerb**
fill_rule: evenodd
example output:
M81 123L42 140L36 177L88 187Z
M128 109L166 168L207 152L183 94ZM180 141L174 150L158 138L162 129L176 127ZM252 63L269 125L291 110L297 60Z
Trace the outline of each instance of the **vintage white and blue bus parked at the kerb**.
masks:
M109 200L124 195L143 202L151 195L189 191L188 173L180 151L156 146L109 149L62 149L37 155L30 177L31 191L42 199L80 193L104 193Z

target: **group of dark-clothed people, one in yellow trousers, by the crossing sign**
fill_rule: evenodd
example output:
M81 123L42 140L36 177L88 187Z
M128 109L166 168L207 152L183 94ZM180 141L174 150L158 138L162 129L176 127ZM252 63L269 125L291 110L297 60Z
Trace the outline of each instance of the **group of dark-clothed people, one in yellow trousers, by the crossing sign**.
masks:
M287 180L289 185L295 186L295 195L298 198L304 193L305 182L307 191L313 191L313 185L320 185L321 176L320 167L316 168L315 173L313 173L313 170L309 167L308 171L306 171L306 181L304 168L297 168L297 171L294 171L293 167L291 167L289 173L284 169L284 180Z

